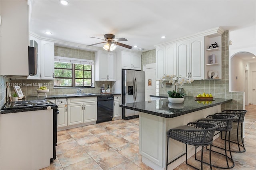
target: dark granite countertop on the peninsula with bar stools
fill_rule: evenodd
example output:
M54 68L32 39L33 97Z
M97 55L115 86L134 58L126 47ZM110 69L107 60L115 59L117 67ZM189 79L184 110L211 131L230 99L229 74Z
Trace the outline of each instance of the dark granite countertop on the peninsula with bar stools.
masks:
M194 97L187 96L184 97L184 103L169 103L168 99L161 99L156 101L123 103L120 105L120 107L160 117L173 118L194 111L221 105L222 103L227 103L230 101L232 101L232 99L213 98L213 101L200 103L195 101Z

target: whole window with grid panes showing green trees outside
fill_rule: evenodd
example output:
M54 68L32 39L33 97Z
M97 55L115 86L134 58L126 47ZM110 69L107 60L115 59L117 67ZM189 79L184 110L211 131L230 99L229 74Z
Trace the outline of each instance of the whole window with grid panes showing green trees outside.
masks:
M92 87L93 61L55 57L54 87Z

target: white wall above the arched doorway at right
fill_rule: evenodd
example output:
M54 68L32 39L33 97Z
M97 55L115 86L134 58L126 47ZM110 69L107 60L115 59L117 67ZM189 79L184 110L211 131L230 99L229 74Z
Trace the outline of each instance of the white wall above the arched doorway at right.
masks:
M244 28L229 30L230 57L240 51L247 51L256 55L256 25L255 23Z

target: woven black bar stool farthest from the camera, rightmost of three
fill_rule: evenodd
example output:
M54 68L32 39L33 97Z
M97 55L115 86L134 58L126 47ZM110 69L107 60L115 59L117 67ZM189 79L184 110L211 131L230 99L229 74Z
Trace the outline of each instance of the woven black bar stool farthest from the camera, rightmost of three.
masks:
M242 127L243 127L244 116L245 116L246 112L247 112L246 110L225 110L225 111L222 111L222 113L215 113L214 114L214 115L220 115L220 114L234 115L236 117L235 120L234 120L234 123L237 123L237 130L236 130L237 142L233 142L233 141L230 141L230 142L237 144L239 151L231 150L231 152L245 152L246 151L246 148L244 147L244 139L243 139L243 134L242 134ZM239 123L241 123L240 132L241 132L242 145L239 144L239 137L238 137ZM223 139L222 135L221 135L221 139ZM240 149L240 146L243 148L243 150Z

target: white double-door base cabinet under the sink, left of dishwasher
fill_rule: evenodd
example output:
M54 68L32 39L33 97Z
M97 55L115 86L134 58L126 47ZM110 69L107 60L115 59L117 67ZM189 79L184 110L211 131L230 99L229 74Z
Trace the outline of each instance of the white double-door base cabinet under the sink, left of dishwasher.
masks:
M68 126L97 121L97 97L68 99Z

